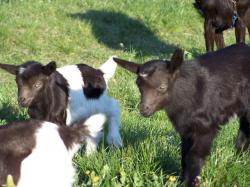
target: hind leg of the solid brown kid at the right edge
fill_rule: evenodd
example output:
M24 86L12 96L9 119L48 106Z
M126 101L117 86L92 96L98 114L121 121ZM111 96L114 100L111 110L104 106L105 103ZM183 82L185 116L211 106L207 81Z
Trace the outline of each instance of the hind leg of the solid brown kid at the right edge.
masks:
M249 120L243 116L240 118L240 129L236 141L236 148L238 151L245 150L249 146L250 137L250 123Z

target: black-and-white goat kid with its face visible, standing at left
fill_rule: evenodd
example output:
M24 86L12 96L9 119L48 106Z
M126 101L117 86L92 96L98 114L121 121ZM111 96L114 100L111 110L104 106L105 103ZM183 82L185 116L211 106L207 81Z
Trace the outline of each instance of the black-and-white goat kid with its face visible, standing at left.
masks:
M86 64L56 69L55 62L42 65L36 61L21 65L0 64L0 68L16 76L18 102L28 107L31 118L69 126L93 114L103 113L109 121L107 141L119 147L122 146L120 107L107 95L107 83L116 66L112 58L100 69ZM86 140L87 154L96 150L101 136L102 132L94 133Z

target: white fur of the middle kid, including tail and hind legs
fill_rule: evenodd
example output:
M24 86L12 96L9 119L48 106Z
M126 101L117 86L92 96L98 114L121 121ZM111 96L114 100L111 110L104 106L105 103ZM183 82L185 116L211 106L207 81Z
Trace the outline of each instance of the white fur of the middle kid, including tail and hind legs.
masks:
M100 69L104 72L105 81L108 81L114 74L116 69L116 63L109 58L109 60L103 64ZM110 69L109 69L110 67ZM57 71L63 75L69 84L69 104L67 107L67 125L71 125L75 121L87 118L93 114L103 113L106 115L109 121L109 132L107 141L109 144L120 147L122 146L122 140L120 136L120 107L118 102L107 95L107 91L98 99L87 99L83 93L83 78L80 70L76 65L64 66L58 68ZM91 153L96 150L98 142L102 137L102 132L95 129L96 121L93 120L92 130L95 132L92 134L91 138L86 140L86 151ZM102 123L102 124L101 124ZM99 125L104 125L104 121L100 122Z

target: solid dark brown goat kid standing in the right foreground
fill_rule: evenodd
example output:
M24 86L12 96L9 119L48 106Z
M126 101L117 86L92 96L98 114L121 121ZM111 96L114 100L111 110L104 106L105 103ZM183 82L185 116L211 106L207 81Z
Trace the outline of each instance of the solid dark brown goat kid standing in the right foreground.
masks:
M148 117L165 110L181 136L182 178L199 186L199 175L219 126L237 114L236 147L246 149L250 135L250 47L236 44L183 62L177 49L171 61L145 64L114 58L138 75L140 112Z

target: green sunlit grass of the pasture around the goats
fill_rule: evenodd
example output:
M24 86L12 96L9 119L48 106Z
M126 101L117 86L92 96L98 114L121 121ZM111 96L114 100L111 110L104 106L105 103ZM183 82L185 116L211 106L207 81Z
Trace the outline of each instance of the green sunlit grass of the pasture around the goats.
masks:
M0 59L20 64L86 63L98 67L111 55L142 62L169 58L176 46L196 57L205 52L203 23L192 0L0 0ZM234 42L233 31L226 43ZM249 42L249 40L248 40ZM122 109L122 149L103 140L98 153L74 159L75 187L178 186L180 139L163 112L138 112L135 77L118 68L109 93ZM16 102L14 78L0 71L0 124L27 119ZM234 149L238 121L222 128L202 171L202 186L250 186L249 153ZM174 177L177 181L174 181Z

